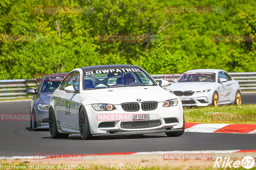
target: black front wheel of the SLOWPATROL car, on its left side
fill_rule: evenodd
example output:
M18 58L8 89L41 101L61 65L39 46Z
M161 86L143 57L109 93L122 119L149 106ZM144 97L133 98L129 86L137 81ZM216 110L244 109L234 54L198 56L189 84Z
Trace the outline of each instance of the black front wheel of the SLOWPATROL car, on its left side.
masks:
M78 122L81 138L83 140L91 138L92 134L90 132L89 121L84 107L82 107L79 111Z

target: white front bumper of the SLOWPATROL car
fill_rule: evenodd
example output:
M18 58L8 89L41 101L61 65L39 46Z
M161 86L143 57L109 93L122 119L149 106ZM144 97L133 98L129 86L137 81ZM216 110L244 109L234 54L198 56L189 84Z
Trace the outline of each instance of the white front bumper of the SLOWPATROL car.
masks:
M136 112L126 112L122 109L121 105L115 105L116 110L111 111L95 111L91 105L85 105L85 110L87 112L90 131L93 136L95 135L122 135L122 134L145 134L145 133L157 133L157 132L168 132L168 131L180 131L183 126L183 108L181 101L177 106L172 107L163 107L163 102L159 102L156 110L143 111L140 110ZM149 120L160 121L160 124L154 127L146 128L122 128L122 123L124 122L135 122L137 120L99 120L97 115L106 114L108 115L150 115ZM109 116L110 117L110 116ZM166 118L175 118L177 121L172 123L166 123ZM99 127L99 124L102 122L115 122L114 127ZM141 120L144 121L144 120ZM147 120L145 120L147 121ZM167 129L166 129L167 128Z

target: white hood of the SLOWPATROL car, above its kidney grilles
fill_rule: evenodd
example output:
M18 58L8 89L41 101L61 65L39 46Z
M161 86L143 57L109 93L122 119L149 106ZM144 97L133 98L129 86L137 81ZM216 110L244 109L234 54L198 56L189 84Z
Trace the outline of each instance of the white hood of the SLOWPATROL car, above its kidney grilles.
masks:
M104 104L157 101L172 99L172 94L159 86L116 87L106 89L83 90L83 95L90 96ZM140 99L141 101L137 101Z

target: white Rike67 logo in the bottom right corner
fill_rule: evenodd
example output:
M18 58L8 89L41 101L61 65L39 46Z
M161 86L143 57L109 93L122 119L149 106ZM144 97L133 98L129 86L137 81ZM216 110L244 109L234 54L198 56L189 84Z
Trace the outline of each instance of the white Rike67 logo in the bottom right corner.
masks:
M223 162L222 162L223 161ZM227 168L227 167L234 167L234 168L238 168L243 166L245 169L251 169L255 164L254 159L251 156L245 156L242 161L240 160L230 160L230 157L225 157L224 159L222 159L221 157L217 157L214 163L214 168L217 166L222 167L222 168Z

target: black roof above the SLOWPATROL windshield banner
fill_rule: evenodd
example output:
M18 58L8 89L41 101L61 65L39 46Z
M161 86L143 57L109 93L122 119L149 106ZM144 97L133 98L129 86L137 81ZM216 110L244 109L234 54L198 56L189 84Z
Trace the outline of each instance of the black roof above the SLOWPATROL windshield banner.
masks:
M83 70L83 72L86 72L86 71L111 69L111 68L140 68L140 67L135 65L113 64L113 65L88 66L88 67L82 67L81 69Z

